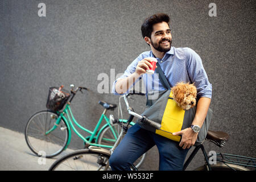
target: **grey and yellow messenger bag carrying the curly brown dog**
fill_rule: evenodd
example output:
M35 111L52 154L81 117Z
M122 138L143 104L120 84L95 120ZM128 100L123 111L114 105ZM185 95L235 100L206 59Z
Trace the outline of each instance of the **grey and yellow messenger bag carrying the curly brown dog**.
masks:
M161 124L161 128L155 129L148 125L144 125L140 119L137 123L146 130L152 131L156 134L162 135L163 137L169 138L176 142L180 142L181 136L174 136L172 133L184 130L191 126L193 119L196 114L196 106L189 110L181 109L172 98L171 86L167 81L160 65L157 63L158 67L155 69L156 73L159 73L159 80L162 82L163 86L167 90L160 92L151 92L147 96L147 108L141 115L146 116L148 119ZM150 98L155 98L150 100ZM195 146L203 143L210 126L210 121L212 119L213 111L208 109L207 117L199 131Z

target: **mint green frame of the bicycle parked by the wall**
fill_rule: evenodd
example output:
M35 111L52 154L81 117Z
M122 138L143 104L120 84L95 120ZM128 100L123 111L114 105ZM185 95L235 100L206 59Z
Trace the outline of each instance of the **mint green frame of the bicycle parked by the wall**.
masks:
M56 120L54 126L52 127L52 129L50 129L49 131L46 132L46 135L49 134L49 133L51 133L51 131L55 130L55 129L57 128L57 126L59 126L59 123L60 123L61 119L63 119L63 121L67 124L68 133L69 133L68 142L67 142L67 144L66 144L64 150L68 147L69 143L71 142L71 129L72 129L82 140L84 140L84 142L85 142L86 144L88 144L89 146L97 146L97 147L112 148L113 146L107 146L107 145L103 145L103 144L97 144L97 142L98 142L98 137L99 137L101 131L104 130L105 127L107 127L107 126L109 126L110 129L112 130L112 133L113 133L113 135L114 135L114 137L115 137L115 140L116 140L117 137L118 137L117 135L115 135L116 133L115 133L115 131L114 131L114 128L113 128L112 125L110 124L109 118L106 117L105 113L106 113L106 109L105 109L105 110L103 111L103 113L101 114L101 117L100 117L100 119L98 120L97 125L96 125L96 127L94 128L94 130L93 130L93 131L90 131L90 130L86 129L85 127L81 126L81 125L76 121L76 119L75 119L75 117L73 116L73 113L72 113L72 111L71 111L70 102L68 102L68 104L65 106L65 109L64 109L61 113L60 113L60 112L57 112L57 114L59 114L59 117L57 118L57 120ZM101 125L103 119L105 119L106 124L101 127L101 129L99 130L99 132L98 132L98 134L97 134L97 131L98 131L98 129L99 129L99 127L100 127L100 125ZM119 121L124 122L124 123L127 122L127 120L125 120L125 119L119 119ZM75 128L74 123L75 123L75 125L78 126L81 130L86 131L87 133L90 134L89 139L86 139L86 138L88 138L88 137L85 138L83 135L81 135L81 134L79 133L79 131L77 131L77 129ZM131 125L134 125L134 124L135 124L135 123L131 122ZM96 140L95 143L92 142L93 139ZM109 139L109 140L110 140L110 139Z

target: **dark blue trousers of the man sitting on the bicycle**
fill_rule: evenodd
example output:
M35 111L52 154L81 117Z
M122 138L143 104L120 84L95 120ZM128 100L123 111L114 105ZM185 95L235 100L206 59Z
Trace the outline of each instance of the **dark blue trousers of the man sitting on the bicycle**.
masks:
M179 142L144 130L138 124L127 131L121 143L110 156L110 167L112 170L130 171L131 164L155 144L159 151L159 170L177 171L183 169L183 163L189 149L183 150L179 146Z

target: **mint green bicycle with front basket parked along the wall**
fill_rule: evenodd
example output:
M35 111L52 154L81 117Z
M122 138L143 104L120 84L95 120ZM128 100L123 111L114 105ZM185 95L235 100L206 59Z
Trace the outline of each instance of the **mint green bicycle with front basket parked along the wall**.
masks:
M58 103L60 107L52 107L53 110L55 109L56 111L39 111L38 113L32 115L30 119L28 119L25 129L25 139L28 147L32 152L34 152L34 154L38 156L42 156L42 154L45 154L44 156L46 158L52 158L53 156L59 155L61 152L68 148L68 145L71 142L71 130L75 131L75 134L84 141L86 148L88 148L89 146L112 148L113 144L121 133L120 126L117 123L115 125L111 125L110 119L105 115L107 110L113 110L115 107L117 107L117 105L109 104L105 101L98 102L105 109L101 114L101 117L98 120L94 130L90 131L85 127L81 126L72 114L71 102L78 91L82 92L82 90L88 89L79 86L78 88L73 90L73 85L71 86L71 94L63 92L64 94L66 94L66 96L64 96L62 103L61 101ZM57 90L57 88L53 89ZM49 96L51 96L51 94L53 93L53 89L50 88ZM53 93L53 96L55 95L56 93ZM59 111L62 109L61 107L63 107L65 104L65 109L63 111ZM47 102L47 106L48 105L49 104ZM106 123L100 128L103 119L105 119ZM125 124L127 123L127 120L119 119L119 122ZM81 135L79 131L77 131L74 124L78 126L81 130L89 133L90 135L88 137L84 137L83 135ZM135 123L130 122L130 126L133 125L135 125ZM137 168L141 166L144 158L145 155L142 155L141 158L139 158L138 161L135 163L135 166Z

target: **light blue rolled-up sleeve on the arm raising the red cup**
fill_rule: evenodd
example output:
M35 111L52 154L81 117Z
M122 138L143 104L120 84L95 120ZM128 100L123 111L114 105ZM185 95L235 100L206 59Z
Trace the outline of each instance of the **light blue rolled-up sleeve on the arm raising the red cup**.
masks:
M135 69L136 69L136 67L137 67L137 64L138 64L138 62L139 62L140 60L142 60L141 55L139 55L139 56L127 67L125 73L123 73L123 75L122 75L121 77L117 78L117 80L115 80L115 81L113 82L112 93L113 93L114 95L123 95L123 94L125 94L125 93L123 93L123 94L117 93L117 92L115 91L115 84L117 84L117 81L118 81L118 80L121 80L122 78L126 78L126 77L130 76L132 73L134 73L134 72L135 72ZM134 82L134 84L135 84L138 80L139 80L139 78ZM133 85L134 85L134 84L133 84ZM133 85L132 85L131 87L133 87ZM129 93L129 90L131 89L131 87L127 90L126 93Z

